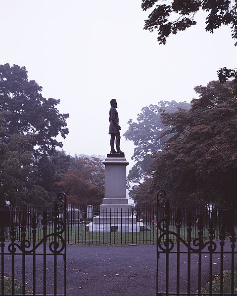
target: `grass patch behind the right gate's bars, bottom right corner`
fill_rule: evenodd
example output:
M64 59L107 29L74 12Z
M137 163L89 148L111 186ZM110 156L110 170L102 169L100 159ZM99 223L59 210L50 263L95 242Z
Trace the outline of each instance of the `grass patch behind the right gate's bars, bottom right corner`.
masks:
M231 293L231 271L226 270L223 272L223 293ZM221 277L217 275L214 277L212 281L212 293L220 293L220 283ZM202 288L202 293L209 293L210 284L206 284L205 287ZM234 294L237 295L237 270L234 270ZM205 296L205 294L202 294ZM208 294L209 295L209 294Z

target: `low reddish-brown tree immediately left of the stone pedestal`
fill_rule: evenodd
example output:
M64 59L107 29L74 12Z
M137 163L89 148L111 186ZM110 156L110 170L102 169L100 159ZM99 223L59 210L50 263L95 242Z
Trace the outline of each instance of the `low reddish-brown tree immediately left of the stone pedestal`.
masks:
M104 197L104 168L100 159L78 158L56 185L68 198L68 203L100 205Z

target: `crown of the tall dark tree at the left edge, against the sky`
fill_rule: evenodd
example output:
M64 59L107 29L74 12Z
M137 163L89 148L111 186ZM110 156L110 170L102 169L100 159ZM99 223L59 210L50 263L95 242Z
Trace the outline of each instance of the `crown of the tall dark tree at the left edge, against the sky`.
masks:
M65 138L69 132L69 115L56 108L60 100L46 99L41 91L35 81L28 81L25 67L0 65L0 111L6 123L0 139L5 142L12 134L26 135L37 158L62 147L56 137Z

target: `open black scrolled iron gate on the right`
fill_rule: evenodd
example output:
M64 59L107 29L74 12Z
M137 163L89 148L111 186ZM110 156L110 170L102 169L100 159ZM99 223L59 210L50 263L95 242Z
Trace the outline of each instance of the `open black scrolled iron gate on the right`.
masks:
M157 193L156 296L237 294L233 214L232 209L174 210L165 192Z

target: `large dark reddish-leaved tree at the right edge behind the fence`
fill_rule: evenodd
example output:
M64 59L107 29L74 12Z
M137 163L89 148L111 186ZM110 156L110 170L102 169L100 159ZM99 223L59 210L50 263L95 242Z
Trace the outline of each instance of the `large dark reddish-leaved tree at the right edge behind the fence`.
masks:
M150 169L152 188L173 204L217 203L237 208L237 100L234 82L197 86L190 110L164 112L172 136Z

